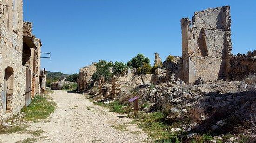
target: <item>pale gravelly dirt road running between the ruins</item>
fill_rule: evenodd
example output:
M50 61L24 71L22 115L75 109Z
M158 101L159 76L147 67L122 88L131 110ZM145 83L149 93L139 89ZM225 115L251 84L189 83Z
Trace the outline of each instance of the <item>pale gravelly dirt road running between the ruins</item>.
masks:
M82 94L54 91L50 96L57 103L56 111L47 120L29 122L28 130L43 130L32 134L0 135L0 142L14 143L32 140L37 142L72 143L141 143L148 136L129 124L131 119L94 105Z

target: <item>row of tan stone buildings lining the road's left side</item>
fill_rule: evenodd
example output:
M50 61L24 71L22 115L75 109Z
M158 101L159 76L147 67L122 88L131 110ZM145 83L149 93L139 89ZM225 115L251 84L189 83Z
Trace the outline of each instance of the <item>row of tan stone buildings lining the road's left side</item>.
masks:
M31 31L32 24L23 23L23 1L0 0L0 122L44 89L41 42Z

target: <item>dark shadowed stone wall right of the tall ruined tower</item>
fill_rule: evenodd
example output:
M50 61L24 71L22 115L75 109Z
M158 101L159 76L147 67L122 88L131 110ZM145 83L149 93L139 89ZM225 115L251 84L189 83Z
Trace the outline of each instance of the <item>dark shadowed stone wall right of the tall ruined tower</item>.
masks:
M249 74L256 74L256 50L230 59L229 81L242 81Z

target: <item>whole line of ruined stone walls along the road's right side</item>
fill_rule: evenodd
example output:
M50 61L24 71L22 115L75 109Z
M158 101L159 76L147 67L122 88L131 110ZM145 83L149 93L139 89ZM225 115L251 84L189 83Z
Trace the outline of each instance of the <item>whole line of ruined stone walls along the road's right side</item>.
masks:
M241 81L246 75L255 74L256 50L249 52L248 55L232 55L230 27L230 6L195 12L192 21L188 18L181 19L182 57L168 56L162 64L159 54L155 53L154 65L157 65L157 68L153 74L138 75L136 69L128 69L127 74L123 76L113 76L111 85L104 85L101 80L97 81L100 93L104 93L103 89L108 89L104 86L112 88L111 95L117 95L121 93L121 88L148 83L183 84L184 81L195 83L198 79ZM79 91L88 89L88 83L95 71L94 65L80 68Z

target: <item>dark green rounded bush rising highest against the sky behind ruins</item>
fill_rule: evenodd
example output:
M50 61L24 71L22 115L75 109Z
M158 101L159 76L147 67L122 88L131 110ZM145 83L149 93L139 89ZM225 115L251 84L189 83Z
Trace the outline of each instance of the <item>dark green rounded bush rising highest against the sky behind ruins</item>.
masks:
M144 57L143 54L138 54L134 58L132 58L129 62L127 62L127 65L131 68L139 68L143 66L143 63L150 63L150 60L148 57Z

